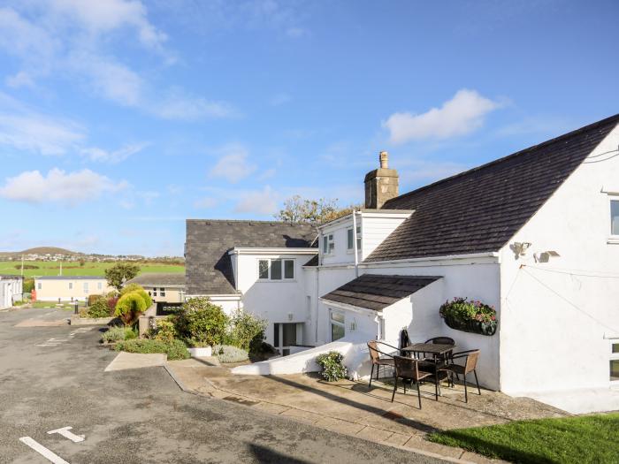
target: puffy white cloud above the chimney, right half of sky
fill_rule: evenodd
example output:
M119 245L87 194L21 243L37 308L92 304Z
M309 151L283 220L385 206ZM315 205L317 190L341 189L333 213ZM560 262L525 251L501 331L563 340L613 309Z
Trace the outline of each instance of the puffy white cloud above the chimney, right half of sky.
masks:
M485 115L501 103L479 95L475 90L458 90L451 100L440 108L422 114L394 113L382 125L393 143L424 139L448 139L471 133L483 126Z

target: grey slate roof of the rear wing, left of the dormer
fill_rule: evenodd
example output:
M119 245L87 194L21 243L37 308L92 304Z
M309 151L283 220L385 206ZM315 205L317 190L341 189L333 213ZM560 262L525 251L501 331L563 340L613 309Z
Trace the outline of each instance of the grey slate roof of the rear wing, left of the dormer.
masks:
M312 224L187 219L187 293L237 293L228 255L233 247L307 248L315 245L316 237Z

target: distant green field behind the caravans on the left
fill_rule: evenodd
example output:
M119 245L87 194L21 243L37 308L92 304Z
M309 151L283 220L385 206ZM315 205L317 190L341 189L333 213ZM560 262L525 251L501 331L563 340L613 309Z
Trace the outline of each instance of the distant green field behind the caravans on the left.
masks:
M63 262L63 276L103 276L104 270L113 266L115 262L85 262L80 266L80 262ZM166 264L164 262L138 262L140 273L142 272L185 272L185 266ZM24 276L57 276L60 273L60 263L54 261L27 261L25 266L37 266L38 269L25 269ZM17 267L16 267L17 266ZM11 274L19 276L21 262L19 261L0 261L0 275Z

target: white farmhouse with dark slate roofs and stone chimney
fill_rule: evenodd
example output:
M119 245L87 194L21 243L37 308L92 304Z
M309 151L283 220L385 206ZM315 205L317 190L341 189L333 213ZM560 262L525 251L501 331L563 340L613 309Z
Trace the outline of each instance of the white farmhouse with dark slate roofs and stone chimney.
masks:
M288 331L274 324L290 322L302 327L296 343L316 346L238 372L315 369L318 353L337 349L367 377L365 343L397 345L407 329L412 341L445 335L479 348L479 380L493 390L608 389L619 383L618 123L615 115L406 194L383 152L365 178L365 209L319 226L318 248L307 226L267 223L307 240L288 249L263 232L236 243L247 223L188 221L188 293L218 293L224 278L220 301L229 308L233 293L267 317L270 343ZM455 297L493 305L496 333L447 327L439 306Z

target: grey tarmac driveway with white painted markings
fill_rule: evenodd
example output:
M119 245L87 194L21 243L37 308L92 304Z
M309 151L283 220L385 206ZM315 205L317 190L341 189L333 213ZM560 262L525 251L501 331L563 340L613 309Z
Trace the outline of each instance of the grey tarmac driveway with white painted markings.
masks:
M440 462L181 392L160 367L103 372L98 328L14 327L67 316L0 312L1 462Z

